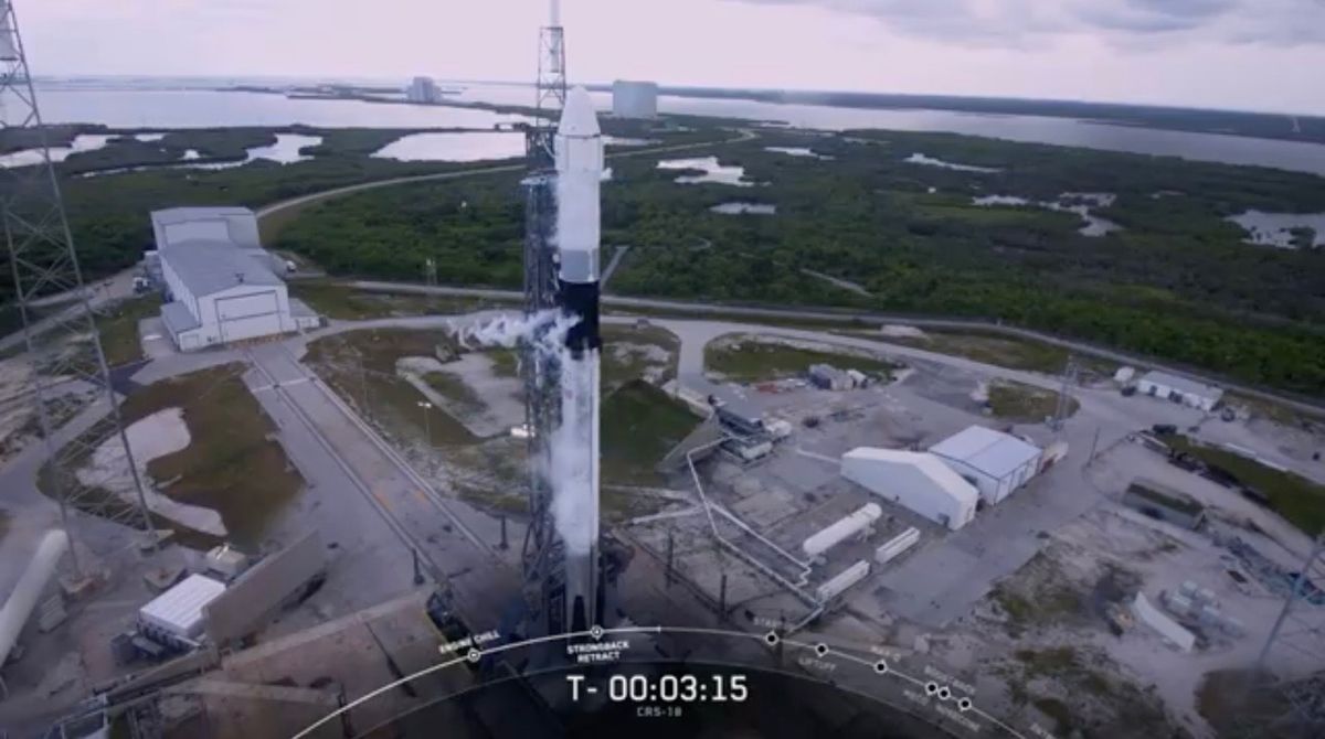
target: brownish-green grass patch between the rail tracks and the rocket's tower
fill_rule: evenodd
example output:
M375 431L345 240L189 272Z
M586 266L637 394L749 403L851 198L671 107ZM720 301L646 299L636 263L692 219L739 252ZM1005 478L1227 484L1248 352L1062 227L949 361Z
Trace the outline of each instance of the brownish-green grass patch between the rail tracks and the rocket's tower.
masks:
M420 408L419 403L427 399L396 373L396 362L401 358L435 356L439 348L450 352L456 347L441 331L372 328L318 339L309 344L303 360L337 395L400 446L425 440L428 432L432 438L427 441L432 444L473 444L473 434L450 415L440 408Z

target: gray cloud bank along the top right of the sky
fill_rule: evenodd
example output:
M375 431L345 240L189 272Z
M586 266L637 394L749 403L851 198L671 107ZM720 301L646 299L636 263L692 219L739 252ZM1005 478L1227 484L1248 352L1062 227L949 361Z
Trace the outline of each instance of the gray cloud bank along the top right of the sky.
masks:
M1057 34L1122 45L1325 44L1325 0L729 0L807 5L872 17L910 36L1023 46Z

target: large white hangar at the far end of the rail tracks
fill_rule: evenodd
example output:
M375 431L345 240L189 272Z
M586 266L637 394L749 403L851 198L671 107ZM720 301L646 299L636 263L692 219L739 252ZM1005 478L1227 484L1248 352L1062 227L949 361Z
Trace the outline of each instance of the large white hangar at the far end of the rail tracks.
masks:
M260 256L252 211L156 211L152 230L167 299L162 323L180 351L319 326Z

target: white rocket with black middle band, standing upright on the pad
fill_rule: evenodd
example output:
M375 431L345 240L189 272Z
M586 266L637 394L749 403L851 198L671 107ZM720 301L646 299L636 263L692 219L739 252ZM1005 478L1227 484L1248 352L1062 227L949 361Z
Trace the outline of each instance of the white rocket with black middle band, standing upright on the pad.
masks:
M599 593L599 240L603 136L583 87L556 130L556 234L562 313L574 320L560 367L562 422L551 445L553 515L566 546L566 624L595 625Z

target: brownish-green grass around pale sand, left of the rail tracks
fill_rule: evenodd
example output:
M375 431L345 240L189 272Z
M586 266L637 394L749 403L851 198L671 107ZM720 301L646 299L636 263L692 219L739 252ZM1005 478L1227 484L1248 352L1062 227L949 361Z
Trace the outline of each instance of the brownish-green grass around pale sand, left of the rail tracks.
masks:
M129 425L158 411L183 409L189 445L147 462L148 475L163 494L216 510L233 540L256 546L272 517L302 489L303 478L272 438L276 428L244 385L245 371L242 364L227 364L162 380L129 396L121 416ZM106 438L109 430L106 422L98 424L83 434L83 442ZM57 475L76 474L86 458L74 457L58 470L42 466L38 489L50 494ZM102 502L122 506L109 491ZM188 546L217 543L213 536L155 518L158 527L176 531Z

